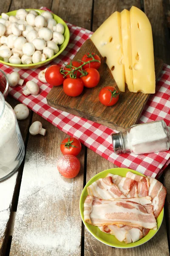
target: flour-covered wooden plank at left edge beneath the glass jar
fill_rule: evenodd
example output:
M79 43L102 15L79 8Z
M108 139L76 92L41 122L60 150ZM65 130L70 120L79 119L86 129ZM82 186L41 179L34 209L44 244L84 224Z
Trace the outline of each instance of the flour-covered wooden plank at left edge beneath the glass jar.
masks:
M11 97L7 98L7 102L11 105L12 108L14 108L14 106L19 103L17 102L17 100ZM24 143L26 142L30 119L31 113L26 120L18 121ZM22 174L22 169L23 166L20 166L18 171L12 177L0 183L0 255L6 249L10 215L12 211L12 201L16 195L14 192L17 191L20 185L18 183L18 180L20 178L20 175Z

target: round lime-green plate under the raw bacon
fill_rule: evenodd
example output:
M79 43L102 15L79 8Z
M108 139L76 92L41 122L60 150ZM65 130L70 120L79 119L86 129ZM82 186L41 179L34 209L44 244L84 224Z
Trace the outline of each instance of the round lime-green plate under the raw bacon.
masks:
M106 234L103 233L102 231L99 230L98 227L92 226L91 224L88 224L84 221L84 202L85 202L85 198L88 195L87 192L87 187L90 186L94 181L98 180L99 178L104 178L108 175L108 173L112 173L112 174L116 174L116 175L121 175L122 177L126 176L127 172L133 172L135 174L142 175L140 172L136 172L130 169L126 169L126 168L113 168L113 169L108 169L105 170L103 172L98 173L97 175L95 175L94 177L91 178L91 180L88 181L88 183L85 185L81 197L80 197L80 202L79 202L79 209L80 209L80 215L82 217L82 221L85 224L85 227L87 228L87 230L91 233L92 236L94 236L97 240L101 241L103 244L107 244L111 247L117 247L117 248L131 248L131 247L136 247L139 246L141 244L146 243L147 241L149 241L159 230L159 227L161 226L163 217L164 217L164 209L162 209L161 213L159 214L156 222L157 222L157 230L150 230L149 233L144 236L142 239L131 243L131 244L125 244L125 242L120 242L118 241L115 236L112 236L110 234Z

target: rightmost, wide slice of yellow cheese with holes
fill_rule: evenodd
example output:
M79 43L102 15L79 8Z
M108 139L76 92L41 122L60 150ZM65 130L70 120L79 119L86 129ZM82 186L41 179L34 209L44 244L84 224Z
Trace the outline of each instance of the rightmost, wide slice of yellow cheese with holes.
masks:
M152 28L147 16L135 6L130 9L134 92L155 93Z

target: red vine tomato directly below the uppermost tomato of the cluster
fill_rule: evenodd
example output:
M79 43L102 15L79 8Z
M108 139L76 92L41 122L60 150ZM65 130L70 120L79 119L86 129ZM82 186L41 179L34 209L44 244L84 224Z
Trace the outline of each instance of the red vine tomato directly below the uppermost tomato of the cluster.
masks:
M80 77L85 87L92 88L92 87L95 87L97 84L99 84L99 81L100 81L99 71L91 67L86 68L85 71L88 74L86 76Z

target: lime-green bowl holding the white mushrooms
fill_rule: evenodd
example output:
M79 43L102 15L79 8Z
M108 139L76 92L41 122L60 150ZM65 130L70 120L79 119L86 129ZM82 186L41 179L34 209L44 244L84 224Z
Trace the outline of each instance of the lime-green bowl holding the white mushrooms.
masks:
M34 10L36 11L39 15L42 13L42 12L45 12L43 10L39 10L39 9L26 9L26 11L30 11L30 10ZM7 14L9 16L13 15L15 16L16 15L16 12L17 10L15 11L12 11L12 12L7 12ZM5 62L5 61L2 61L0 60L0 63L2 64L5 64L5 65L8 65L8 66L11 66L11 67L17 67L17 68L20 68L20 69L33 69L33 68L38 68L38 67L42 67L48 63L50 63L51 61L54 61L55 58L57 58L57 56L62 53L64 51L64 49L66 48L66 46L68 45L68 42L69 42L69 38L70 38L70 32L69 32L69 29L68 29L68 26L66 25L66 23L64 22L64 20L62 20L60 17L58 17L57 15L55 14L52 14L53 15L53 18L54 20L57 21L57 23L61 23L64 27L65 27L65 32L64 32L64 37L65 37L65 41L63 44L59 45L59 52L57 52L57 54L55 54L53 57L51 58L48 58L46 59L45 61L41 61L41 62L37 62L37 63L33 63L33 64L11 64L9 62ZM1 18L1 16L0 16Z

